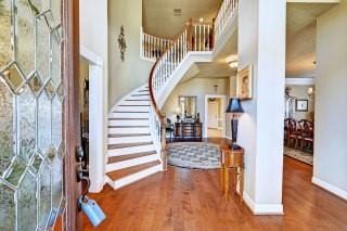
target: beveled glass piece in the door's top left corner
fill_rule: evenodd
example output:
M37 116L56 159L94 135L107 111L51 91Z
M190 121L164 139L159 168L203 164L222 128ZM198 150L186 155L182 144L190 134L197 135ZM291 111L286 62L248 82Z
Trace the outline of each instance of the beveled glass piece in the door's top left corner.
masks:
M13 59L11 14L11 0L0 1L0 69Z

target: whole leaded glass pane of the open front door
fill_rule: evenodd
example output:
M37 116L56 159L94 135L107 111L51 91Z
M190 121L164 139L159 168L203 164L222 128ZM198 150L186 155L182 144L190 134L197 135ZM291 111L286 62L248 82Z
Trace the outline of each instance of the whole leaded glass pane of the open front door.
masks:
M0 230L64 207L61 0L0 0Z

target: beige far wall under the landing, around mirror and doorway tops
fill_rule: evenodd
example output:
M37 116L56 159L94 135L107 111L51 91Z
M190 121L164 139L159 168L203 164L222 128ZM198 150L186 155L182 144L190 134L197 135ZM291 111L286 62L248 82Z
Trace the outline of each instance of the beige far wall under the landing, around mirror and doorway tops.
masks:
M218 91L215 92L214 85L218 85ZM162 112L166 113L169 118L175 118L175 108L178 106L179 95L197 97L196 112L200 113L202 123L205 119L205 95L221 94L229 95L229 78L192 78L191 80L178 85L168 100L165 102ZM228 129L227 129L228 131ZM205 134L203 134L205 136Z

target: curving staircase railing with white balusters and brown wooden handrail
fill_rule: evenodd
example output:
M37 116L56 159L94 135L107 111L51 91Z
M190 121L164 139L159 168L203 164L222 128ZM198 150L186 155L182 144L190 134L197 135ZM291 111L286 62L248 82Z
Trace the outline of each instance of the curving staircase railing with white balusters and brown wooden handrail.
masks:
M150 129L154 138L154 144L157 153L160 153L163 168L166 169L166 121L165 115L160 113L157 105L165 85L170 81L174 72L182 63L189 52L209 52L213 51L215 42L224 31L228 21L233 16L239 7L239 0L224 0L214 21L214 24L193 24L192 20L187 23L183 31L169 46L159 46L158 55L153 55L152 42L146 42L153 38L145 36L142 44L145 47L143 56L147 59L156 59L151 69L149 79L149 89L151 98ZM141 34L142 35L142 34ZM158 42L162 44L162 42ZM157 44L157 43L156 43ZM156 49L157 47L155 47ZM163 50L166 49L165 52ZM154 49L154 50L155 50ZM150 53L150 54L149 54ZM149 56L150 55L150 56ZM152 56L151 56L152 55Z

